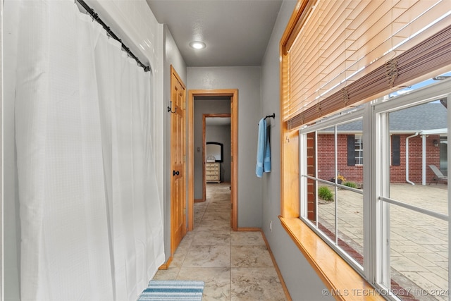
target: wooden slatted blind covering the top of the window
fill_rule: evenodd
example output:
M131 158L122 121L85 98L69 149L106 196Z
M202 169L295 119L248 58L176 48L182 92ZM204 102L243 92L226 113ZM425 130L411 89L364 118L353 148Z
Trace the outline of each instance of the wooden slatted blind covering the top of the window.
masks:
M281 41L288 129L451 66L449 1L300 0L298 6Z

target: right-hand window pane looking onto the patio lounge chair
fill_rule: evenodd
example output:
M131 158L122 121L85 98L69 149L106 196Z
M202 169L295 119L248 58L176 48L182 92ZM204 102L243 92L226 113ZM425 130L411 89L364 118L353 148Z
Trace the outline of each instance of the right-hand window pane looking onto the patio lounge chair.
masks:
M385 116L389 123L387 128L382 127L383 136L390 137L390 130L404 129L405 133L400 135L403 142L400 153L406 158L402 168L384 162L385 171L390 171L390 181L383 176L379 179L386 187L380 196L383 214L390 221L382 225L386 229L383 234L386 238L381 238L387 254L385 269L390 270L390 278L385 278L385 282L390 283L401 299L404 292L400 288L447 292L447 182L440 180L429 185L436 177L430 166L440 166L439 142L440 135L447 135L447 108L440 102L425 102L393 108L380 117ZM383 244L387 239L389 246ZM447 295L438 296L438 300L447 298Z

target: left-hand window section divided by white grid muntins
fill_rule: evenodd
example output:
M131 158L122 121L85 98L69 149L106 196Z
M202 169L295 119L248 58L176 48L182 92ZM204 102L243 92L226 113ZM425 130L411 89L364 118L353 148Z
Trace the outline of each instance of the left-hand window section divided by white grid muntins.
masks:
M355 163L363 163L363 138L346 132L349 128L362 131L362 126L360 119L301 131L304 153L311 154L309 160L317 167L301 169L301 191L311 191L304 195L307 211L302 218L359 269L364 262L363 169Z

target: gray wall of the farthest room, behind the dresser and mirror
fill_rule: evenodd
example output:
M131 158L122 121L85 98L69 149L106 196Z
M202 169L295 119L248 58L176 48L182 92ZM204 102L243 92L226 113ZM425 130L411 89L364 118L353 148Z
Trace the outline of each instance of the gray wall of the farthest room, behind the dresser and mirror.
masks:
M221 166L221 182L230 182L230 125L209 125L205 129L206 142L223 144L223 161Z

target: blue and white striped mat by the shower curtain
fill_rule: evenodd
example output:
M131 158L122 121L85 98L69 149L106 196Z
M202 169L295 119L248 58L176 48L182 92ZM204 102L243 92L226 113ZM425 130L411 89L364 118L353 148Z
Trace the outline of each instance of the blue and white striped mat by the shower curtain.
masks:
M203 281L153 280L149 282L138 301L201 301L204 285Z

